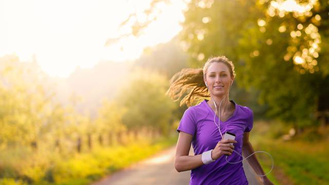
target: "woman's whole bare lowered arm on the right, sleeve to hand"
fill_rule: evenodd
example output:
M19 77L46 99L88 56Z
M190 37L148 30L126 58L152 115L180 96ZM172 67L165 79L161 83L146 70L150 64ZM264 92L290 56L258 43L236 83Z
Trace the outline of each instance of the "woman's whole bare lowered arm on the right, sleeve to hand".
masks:
M243 157L248 157L250 154L254 153L253 147L251 143L249 142L249 132L245 132L243 134L243 145L242 145L242 155ZM250 156L247 159L248 163L252 167L252 169L258 174L258 175L264 175L264 171L261 167L261 164L258 162L255 155ZM263 184L273 184L266 176L260 177L260 180L263 182Z

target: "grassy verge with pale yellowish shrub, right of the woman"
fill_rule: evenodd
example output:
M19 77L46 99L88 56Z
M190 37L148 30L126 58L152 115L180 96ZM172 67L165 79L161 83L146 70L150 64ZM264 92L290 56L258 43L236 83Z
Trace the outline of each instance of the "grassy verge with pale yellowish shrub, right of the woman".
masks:
M255 124L255 131L250 134L255 151L269 152L275 162L275 168L268 176L275 184L329 184L329 149L328 138L306 141L307 136L283 141L273 139L278 125L269 123ZM279 128L278 128L279 129ZM266 154L257 155L267 173L271 160ZM280 174L283 172L284 174Z

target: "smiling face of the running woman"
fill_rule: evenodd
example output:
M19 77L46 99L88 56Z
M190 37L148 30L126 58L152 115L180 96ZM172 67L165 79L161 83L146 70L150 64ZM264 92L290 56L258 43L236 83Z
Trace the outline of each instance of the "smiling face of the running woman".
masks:
M208 89L213 96L222 97L228 93L233 79L230 70L226 64L222 62L214 62L210 64L206 71L206 79Z

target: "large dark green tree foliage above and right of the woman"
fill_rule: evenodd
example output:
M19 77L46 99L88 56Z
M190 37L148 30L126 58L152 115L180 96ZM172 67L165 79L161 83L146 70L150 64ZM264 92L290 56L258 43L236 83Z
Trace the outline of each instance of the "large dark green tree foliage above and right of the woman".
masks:
M200 6L203 4L199 1L191 1L182 24L181 39L194 58L192 66L201 67L211 55L224 54L234 63L239 87L260 91L258 100L268 107L267 116L280 118L296 128L316 125L317 111L329 109L320 106L321 101L329 100L329 87L324 83L329 68L328 50L323 42L328 39L324 19L328 15L324 12L329 5L316 3L310 10L312 16L303 19L295 12L270 16L266 1L205 2L205 6ZM315 20L317 14L322 17L320 23ZM291 36L299 24L303 25L303 36ZM317 32L312 37L306 33L309 24L318 26L313 30L318 29L320 39ZM281 26L285 31L279 31ZM319 57L317 53L311 57L303 55L307 62L297 64L296 57L300 50L304 52L310 47L309 43L318 43ZM318 49L313 48L315 51Z

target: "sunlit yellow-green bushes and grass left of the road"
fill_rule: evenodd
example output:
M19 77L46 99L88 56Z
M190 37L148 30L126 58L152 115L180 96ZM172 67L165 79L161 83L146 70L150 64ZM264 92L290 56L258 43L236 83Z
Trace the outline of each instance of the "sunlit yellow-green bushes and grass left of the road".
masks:
M88 184L174 143L151 141L156 135L130 137L145 127L163 134L171 130L175 105L165 96L168 79L159 73L136 70L134 85L115 101L105 99L92 120L78 113L79 97L72 95L66 106L57 102L38 66L11 55L0 63L1 184ZM93 143L117 133L125 146Z

